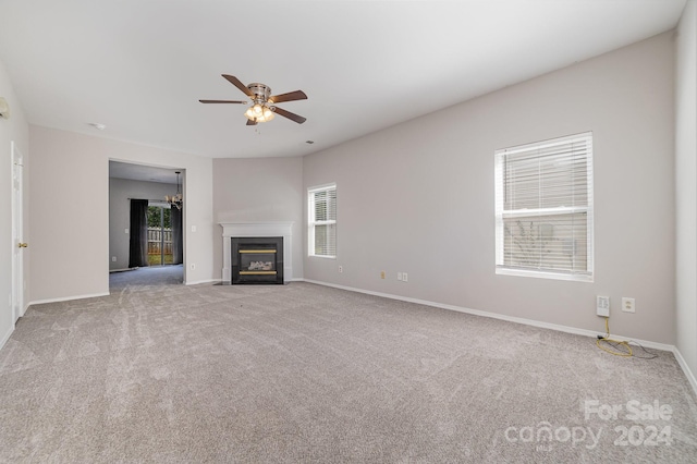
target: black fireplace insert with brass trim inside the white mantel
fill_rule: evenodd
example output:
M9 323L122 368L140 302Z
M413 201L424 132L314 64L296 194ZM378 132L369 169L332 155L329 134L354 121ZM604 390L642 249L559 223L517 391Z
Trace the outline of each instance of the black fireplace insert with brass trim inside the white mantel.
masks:
M232 237L232 284L283 283L283 237Z

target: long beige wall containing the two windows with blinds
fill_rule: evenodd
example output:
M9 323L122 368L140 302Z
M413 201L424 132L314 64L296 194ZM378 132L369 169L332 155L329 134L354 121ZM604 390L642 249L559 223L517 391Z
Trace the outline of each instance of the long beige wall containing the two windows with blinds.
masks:
M673 69L665 33L305 157L305 188L338 188L338 257L305 279L599 333L608 295L614 333L673 344ZM586 131L595 282L497 276L494 150Z

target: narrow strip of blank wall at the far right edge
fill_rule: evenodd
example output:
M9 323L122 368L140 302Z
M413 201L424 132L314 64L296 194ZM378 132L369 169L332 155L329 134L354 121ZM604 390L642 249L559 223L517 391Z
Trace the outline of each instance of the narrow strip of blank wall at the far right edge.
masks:
M697 375L697 2L677 27L675 73L676 346Z

